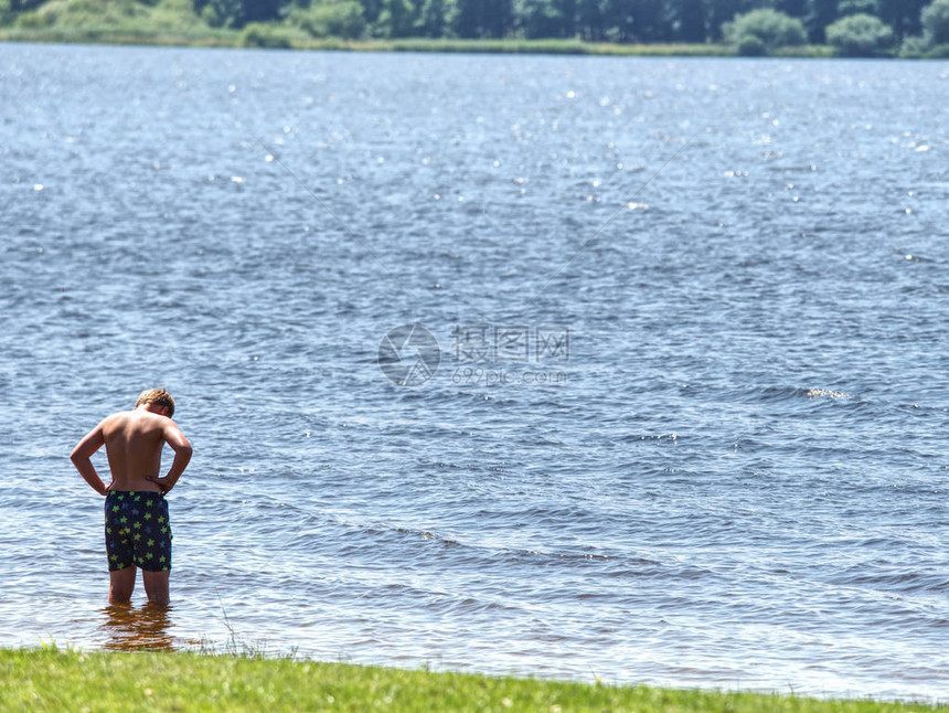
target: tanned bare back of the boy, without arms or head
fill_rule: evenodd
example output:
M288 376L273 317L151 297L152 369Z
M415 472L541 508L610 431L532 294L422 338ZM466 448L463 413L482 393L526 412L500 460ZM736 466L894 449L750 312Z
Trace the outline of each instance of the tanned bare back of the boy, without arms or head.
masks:
M161 492L148 477L158 477L161 449L171 419L149 411L122 411L102 423L115 490Z

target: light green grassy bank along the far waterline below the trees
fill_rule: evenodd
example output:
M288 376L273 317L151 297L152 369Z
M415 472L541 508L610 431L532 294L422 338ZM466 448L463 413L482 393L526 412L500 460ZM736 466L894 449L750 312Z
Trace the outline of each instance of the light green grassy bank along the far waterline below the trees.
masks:
M147 44L163 46L241 47L263 46L287 50L343 52L468 52L497 54L586 54L620 56L729 57L736 51L728 44L615 44L578 40L340 40L311 38L279 25L255 32L203 28L170 29L138 26L0 28L0 42L68 42L82 44ZM783 57L828 57L824 45L783 47Z

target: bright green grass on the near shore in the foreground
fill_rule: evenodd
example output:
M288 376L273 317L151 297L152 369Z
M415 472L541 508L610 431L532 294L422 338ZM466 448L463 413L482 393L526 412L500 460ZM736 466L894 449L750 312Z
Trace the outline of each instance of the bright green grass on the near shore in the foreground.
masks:
M0 711L876 713L919 704L433 673L199 653L0 650Z

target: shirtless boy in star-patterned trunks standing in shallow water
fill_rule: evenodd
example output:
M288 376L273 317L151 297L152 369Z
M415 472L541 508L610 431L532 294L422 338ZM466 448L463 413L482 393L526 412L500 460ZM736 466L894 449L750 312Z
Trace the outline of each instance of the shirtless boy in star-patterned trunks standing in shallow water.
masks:
M171 421L174 400L164 389L143 391L135 411L106 417L73 449L73 465L87 483L106 498L106 552L109 603L131 599L137 568L148 600L167 605L171 572L171 523L166 493L191 459L191 444ZM111 482L106 486L90 457L105 444ZM161 449L174 460L159 478Z

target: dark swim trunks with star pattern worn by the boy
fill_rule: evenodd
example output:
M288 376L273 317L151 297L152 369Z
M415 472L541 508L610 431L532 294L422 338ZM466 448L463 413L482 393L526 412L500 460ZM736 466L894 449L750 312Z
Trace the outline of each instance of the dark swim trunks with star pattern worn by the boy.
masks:
M162 493L108 492L106 553L109 572L132 565L148 572L171 570L171 522Z

